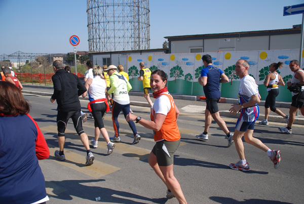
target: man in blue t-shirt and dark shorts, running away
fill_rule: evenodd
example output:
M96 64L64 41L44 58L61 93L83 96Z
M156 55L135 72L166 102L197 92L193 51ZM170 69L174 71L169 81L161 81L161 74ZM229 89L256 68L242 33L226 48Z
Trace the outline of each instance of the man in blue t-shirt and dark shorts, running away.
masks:
M208 130L213 118L220 129L226 134L225 138L228 140L228 147L230 147L233 144L233 134L229 132L225 121L220 117L217 106L220 100L219 83L227 83L229 78L222 70L212 66L212 58L210 55L203 55L202 60L205 68L202 69L199 83L204 87L207 104L205 110L205 129L204 132L197 135L196 138L204 141L208 140Z

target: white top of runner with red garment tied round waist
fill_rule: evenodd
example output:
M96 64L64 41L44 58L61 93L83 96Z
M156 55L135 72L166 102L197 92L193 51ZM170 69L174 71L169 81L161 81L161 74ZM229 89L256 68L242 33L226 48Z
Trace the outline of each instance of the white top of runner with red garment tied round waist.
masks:
M103 99L105 97L106 82L100 76L94 76L89 87L90 101ZM93 99L93 100L92 100Z

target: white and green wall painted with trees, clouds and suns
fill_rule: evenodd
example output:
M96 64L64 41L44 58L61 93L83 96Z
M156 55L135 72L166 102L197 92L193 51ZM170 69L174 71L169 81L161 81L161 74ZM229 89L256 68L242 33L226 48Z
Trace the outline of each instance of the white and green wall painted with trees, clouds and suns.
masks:
M299 50L272 50L272 51L240 51L216 53L187 53L187 54L156 54L132 55L127 57L127 68L132 90L143 91L142 81L139 81L139 63L144 62L145 67L162 69L168 77L168 90L173 94L204 96L203 87L198 83L198 77L204 68L202 56L209 54L213 66L220 68L230 79L229 83L221 84L221 97L238 98L240 78L235 74L235 63L239 59L246 59L249 64L249 74L259 85L261 100L268 95L263 85L265 76L269 73L269 65L274 62L283 62L284 66L278 70L285 83L291 80L293 72L289 69L289 62L299 59ZM304 53L302 56L304 57ZM301 66L303 67L303 65ZM291 93L285 87L279 86L280 94L277 101L291 101Z

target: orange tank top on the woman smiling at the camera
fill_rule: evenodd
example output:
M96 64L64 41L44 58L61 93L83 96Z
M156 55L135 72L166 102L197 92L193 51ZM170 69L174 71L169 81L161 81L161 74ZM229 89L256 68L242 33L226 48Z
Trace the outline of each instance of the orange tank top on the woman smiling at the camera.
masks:
M163 93L161 95L166 95L169 98L171 108L166 115L162 128L158 132L154 131L154 141L156 141L156 142L161 141L161 140L177 141L180 139L180 133L179 133L179 130L177 127L177 122L176 122L176 112L175 112L174 100L170 94ZM150 114L150 118L152 121L154 121L154 115L155 115L155 110L153 109Z

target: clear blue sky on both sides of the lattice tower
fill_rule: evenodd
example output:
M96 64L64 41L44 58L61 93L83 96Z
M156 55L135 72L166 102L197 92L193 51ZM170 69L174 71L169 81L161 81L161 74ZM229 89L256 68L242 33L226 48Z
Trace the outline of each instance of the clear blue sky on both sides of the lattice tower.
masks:
M101 1L101 0L100 0ZM165 36L292 28L302 15L283 16L283 7L303 0L150 0L150 49ZM0 0L0 55L88 51L86 0Z

